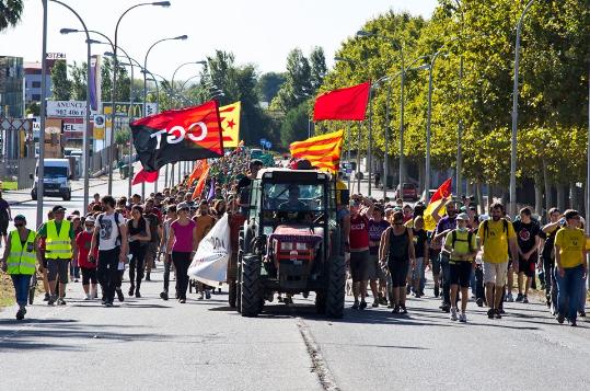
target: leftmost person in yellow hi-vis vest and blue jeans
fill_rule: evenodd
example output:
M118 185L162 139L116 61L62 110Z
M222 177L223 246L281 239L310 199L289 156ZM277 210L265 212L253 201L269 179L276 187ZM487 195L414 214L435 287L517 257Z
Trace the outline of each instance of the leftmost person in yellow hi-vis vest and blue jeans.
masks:
M12 278L19 311L16 319L23 320L26 313L28 300L28 286L31 277L36 272L36 264L41 267L41 253L36 241L36 233L26 228L26 219L23 215L14 217L15 230L9 233L9 240L4 255L0 262L2 271Z

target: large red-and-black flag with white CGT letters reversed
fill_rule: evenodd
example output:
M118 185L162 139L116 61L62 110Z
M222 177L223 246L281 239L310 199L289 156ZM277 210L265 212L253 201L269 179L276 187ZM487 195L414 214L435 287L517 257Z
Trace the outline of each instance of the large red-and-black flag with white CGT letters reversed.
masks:
M217 101L150 115L130 126L146 171L158 171L177 161L223 156Z

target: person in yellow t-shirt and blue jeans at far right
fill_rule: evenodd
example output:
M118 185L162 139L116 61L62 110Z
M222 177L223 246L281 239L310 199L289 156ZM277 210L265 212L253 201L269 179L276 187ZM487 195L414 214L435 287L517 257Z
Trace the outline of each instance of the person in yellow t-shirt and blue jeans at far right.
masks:
M577 210L564 212L566 226L555 235L555 281L557 283L557 322L567 319L571 326L577 325L581 285L588 276L586 263L586 235L579 227L580 215Z

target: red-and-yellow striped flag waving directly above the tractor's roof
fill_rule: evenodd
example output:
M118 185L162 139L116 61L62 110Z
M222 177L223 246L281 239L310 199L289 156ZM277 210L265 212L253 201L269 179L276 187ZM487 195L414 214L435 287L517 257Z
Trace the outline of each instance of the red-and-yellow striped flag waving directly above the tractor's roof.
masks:
M336 173L340 164L343 140L344 130L338 130L291 142L289 150L293 158L306 159L314 168Z

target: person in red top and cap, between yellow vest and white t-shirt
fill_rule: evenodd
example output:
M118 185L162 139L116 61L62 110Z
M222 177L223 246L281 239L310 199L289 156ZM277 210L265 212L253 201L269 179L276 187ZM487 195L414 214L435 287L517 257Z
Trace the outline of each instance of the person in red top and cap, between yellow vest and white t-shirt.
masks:
M95 249L93 256L89 257L92 245L92 233L94 232L94 217L89 216L84 220L84 230L76 235L78 266L82 272L82 289L84 289L84 300L97 297L96 260L99 252Z

